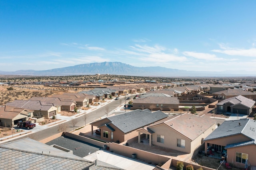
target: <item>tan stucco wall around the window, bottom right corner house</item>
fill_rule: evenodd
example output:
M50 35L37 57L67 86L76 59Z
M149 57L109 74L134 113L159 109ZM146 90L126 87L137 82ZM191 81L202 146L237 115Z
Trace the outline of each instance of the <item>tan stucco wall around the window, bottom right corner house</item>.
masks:
M236 162L236 152L241 152L244 154L248 154L248 160L250 166L256 166L256 145L247 145L243 147L229 148L227 150L227 162L234 164L237 167L244 168L245 164Z

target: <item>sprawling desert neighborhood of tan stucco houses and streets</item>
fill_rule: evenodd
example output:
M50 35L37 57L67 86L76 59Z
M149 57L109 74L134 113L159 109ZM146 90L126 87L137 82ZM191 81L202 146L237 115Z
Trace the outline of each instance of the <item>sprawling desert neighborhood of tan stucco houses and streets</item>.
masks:
M12 132L9 136L1 135L1 153L8 151L1 160L7 160L16 150L51 161L62 159L64 152L68 152L63 161L74 164L70 169L133 169L114 161L128 161L120 156L132 159L129 164L142 169L172 169L178 161L194 168L213 168L200 165L199 158L218 160L222 168L226 168L226 163L238 169L256 167L253 153L256 93L243 85L229 83L228 88L218 83L222 86L219 89L215 84L202 82L113 81L104 87L106 82L103 85L101 81L100 87L86 90L56 94L53 91L47 97L15 99L0 106L0 126ZM49 83L43 84L40 86L52 88ZM83 85L86 84L67 87L77 89ZM27 121L35 126L26 129L17 125ZM54 127L58 132L36 140L35 135ZM62 139L80 142L72 147L61 142ZM23 146L22 150L18 146ZM40 151L38 146L44 149ZM78 150L84 150L83 154ZM64 162L56 166L65 167ZM15 164L20 166L19 162ZM50 167L50 162L44 166Z

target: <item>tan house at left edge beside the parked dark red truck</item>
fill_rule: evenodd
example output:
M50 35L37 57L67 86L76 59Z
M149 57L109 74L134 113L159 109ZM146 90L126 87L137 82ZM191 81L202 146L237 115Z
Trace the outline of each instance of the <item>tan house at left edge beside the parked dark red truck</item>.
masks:
M18 121L28 121L33 117L33 110L11 106L0 106L0 127L14 127Z

